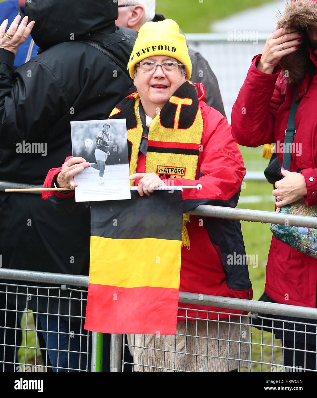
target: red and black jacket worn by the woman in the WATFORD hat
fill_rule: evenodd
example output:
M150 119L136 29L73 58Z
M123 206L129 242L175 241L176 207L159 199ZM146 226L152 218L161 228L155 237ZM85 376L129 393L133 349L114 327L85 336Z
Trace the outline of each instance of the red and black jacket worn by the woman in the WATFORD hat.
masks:
M230 125L220 112L205 103L203 84L195 84L199 94L199 105L203 117L202 150L199 152L196 179L172 179L175 185L203 185L201 191L184 189L184 213L200 204L235 207L240 194L240 186L245 168L238 146L230 133ZM51 187L52 180L61 168L48 172L44 187ZM137 172L145 172L145 156L140 152ZM163 180L164 176L162 177ZM138 181L135 181L137 185ZM58 203L60 198L70 197L58 192L43 192L43 198ZM65 199L64 199L65 201ZM78 205L78 204L77 204ZM240 222L235 220L190 217L187 223L190 249L182 247L180 291L216 295L224 297L252 298L244 243ZM236 261L237 258L242 261ZM232 261L233 260L233 261ZM238 263L238 265L237 265ZM203 298L203 296L202 296ZM186 308L213 310L219 308L180 304ZM220 310L221 311L221 310ZM241 313L236 310L223 310ZM188 311L188 316L196 318L196 311ZM181 320L186 310L179 310ZM207 318L206 312L199 312L199 318ZM228 315L220 314L220 318ZM217 319L218 314L209 314L209 319Z

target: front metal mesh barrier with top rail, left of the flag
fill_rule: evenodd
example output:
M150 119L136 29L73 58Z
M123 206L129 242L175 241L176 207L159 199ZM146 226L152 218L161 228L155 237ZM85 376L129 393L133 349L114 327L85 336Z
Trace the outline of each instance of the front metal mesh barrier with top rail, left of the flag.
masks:
M83 329L87 287L79 275L0 269L0 372L96 371L96 333Z

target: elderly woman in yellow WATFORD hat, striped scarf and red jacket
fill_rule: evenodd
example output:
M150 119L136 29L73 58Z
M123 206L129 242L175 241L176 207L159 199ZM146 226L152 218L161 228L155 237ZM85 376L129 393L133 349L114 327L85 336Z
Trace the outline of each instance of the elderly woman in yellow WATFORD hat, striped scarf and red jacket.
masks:
M191 60L176 22L145 23L128 68L137 92L122 100L110 119L127 122L131 185L143 196L159 185L201 183L201 191L182 192L184 213L200 204L236 206L245 174L242 156L226 119L206 105L204 86L188 80ZM54 176L60 187L76 186L73 176L88 165L83 158L70 158L49 174L45 186L52 186ZM247 263L232 261L234 253L245 259L240 222L185 214L184 223L180 290L251 298ZM249 327L241 312L180 307L191 310L179 309L176 336L128 336L133 345L146 347L144 353L131 349L136 371L152 371L149 366L155 371L222 372L245 367ZM158 350L153 354L151 347Z

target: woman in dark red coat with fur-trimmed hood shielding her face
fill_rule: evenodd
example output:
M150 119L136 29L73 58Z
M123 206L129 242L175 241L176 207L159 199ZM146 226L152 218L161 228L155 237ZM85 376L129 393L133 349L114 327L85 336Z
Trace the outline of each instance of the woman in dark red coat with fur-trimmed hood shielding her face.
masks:
M298 84L298 86L297 86ZM287 4L263 53L253 58L232 109L232 135L239 144L284 144L292 98L299 102L295 116L295 148L290 170L275 183L276 207L304 199L317 205L317 1ZM296 91L296 93L295 93ZM245 111L242 111L244 109ZM277 151L282 161L283 153ZM272 237L267 261L264 301L316 307L317 259ZM279 317L280 318L280 317ZM282 317L274 322L282 339L284 365L316 369L315 320ZM294 321L296 324L294 333ZM286 349L288 348L288 349Z

